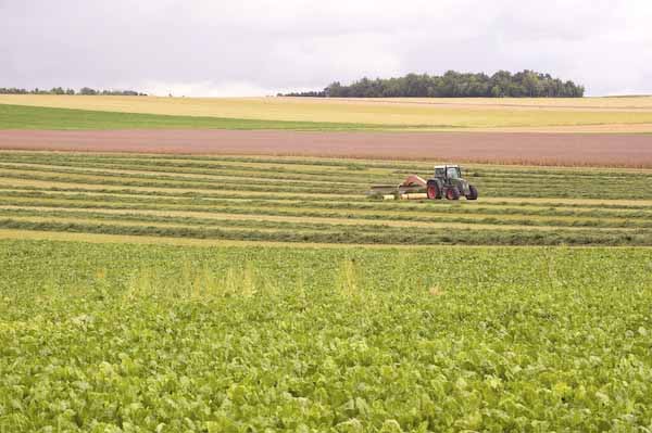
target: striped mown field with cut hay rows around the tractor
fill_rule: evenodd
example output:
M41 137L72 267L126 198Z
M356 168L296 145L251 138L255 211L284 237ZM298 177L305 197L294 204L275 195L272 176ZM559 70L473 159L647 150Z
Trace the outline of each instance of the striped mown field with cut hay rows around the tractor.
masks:
M371 183L428 177L434 163L1 155L0 218L12 230L306 243L651 243L647 170L472 165L464 175L480 190L477 202L379 202L365 196Z

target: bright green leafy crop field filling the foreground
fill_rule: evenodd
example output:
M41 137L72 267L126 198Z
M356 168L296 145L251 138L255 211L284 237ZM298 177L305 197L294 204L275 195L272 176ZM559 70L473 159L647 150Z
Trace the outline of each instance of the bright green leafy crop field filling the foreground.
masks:
M642 249L0 241L0 431L645 431Z

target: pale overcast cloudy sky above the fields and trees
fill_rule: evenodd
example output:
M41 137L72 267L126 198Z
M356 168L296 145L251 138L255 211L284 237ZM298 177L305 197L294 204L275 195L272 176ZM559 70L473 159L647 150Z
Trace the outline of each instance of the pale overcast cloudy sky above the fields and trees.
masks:
M652 0L0 0L0 87L248 97L448 69L652 93Z

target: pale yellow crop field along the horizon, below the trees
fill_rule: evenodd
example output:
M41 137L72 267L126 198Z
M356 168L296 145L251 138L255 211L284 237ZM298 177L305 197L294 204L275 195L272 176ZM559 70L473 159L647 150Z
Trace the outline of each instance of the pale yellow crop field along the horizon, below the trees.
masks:
M0 95L29 106L425 129L652 131L652 97L582 99L311 99Z

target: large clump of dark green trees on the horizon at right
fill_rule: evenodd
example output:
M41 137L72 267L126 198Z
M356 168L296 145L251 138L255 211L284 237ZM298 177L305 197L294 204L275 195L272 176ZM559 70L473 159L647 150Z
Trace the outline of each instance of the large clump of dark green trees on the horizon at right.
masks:
M322 91L279 93L279 97L316 98L581 98L584 86L550 74L499 71L471 74L449 71L442 76L408 74L388 79L362 78L349 86L335 81Z

